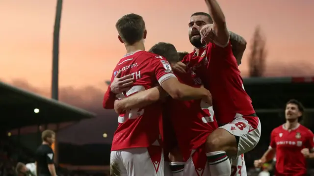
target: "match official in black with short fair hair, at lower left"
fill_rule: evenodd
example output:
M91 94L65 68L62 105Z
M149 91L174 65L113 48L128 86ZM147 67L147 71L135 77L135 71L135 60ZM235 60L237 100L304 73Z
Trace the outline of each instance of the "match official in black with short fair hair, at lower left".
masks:
M35 158L37 165L37 176L57 176L54 167L54 153L52 144L55 140L55 133L52 130L45 130L41 134L43 143L38 147Z

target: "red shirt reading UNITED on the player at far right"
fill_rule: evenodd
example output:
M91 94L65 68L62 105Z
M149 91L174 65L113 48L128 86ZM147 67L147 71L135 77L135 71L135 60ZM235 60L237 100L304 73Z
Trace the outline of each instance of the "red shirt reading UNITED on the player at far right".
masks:
M314 149L314 134L305 126L287 130L284 125L271 132L270 148L276 149L276 176L305 176L306 158L301 150Z

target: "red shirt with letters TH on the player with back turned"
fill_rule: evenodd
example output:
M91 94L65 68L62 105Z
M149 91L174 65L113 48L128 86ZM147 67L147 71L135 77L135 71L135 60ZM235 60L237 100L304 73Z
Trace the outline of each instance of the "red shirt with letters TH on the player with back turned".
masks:
M118 99L144 91L156 84L161 84L170 77L176 77L168 61L147 51L137 51L125 55L113 71L114 76L121 71L121 76L133 75L135 82L130 90L116 95ZM148 147L160 144L162 134L162 107L160 102L142 109L131 109L119 114L118 128L114 133L112 151Z

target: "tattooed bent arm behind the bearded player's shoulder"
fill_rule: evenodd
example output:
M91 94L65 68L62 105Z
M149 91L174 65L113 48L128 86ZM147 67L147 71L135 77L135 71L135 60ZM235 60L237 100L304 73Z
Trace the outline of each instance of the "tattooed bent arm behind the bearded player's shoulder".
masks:
M232 52L235 55L237 65L240 65L244 50L246 49L246 40L242 36L232 31L229 31L229 33L230 33L230 41L232 45Z

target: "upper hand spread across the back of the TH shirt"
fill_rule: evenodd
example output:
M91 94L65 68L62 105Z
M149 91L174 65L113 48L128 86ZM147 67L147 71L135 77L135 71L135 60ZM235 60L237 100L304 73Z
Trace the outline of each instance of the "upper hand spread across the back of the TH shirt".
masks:
M130 89L130 86L134 83L135 79L133 75L121 76L121 72L118 72L110 84L111 92L114 94L120 94Z

